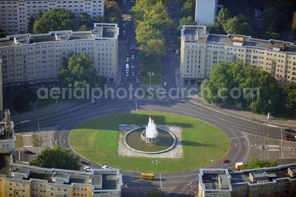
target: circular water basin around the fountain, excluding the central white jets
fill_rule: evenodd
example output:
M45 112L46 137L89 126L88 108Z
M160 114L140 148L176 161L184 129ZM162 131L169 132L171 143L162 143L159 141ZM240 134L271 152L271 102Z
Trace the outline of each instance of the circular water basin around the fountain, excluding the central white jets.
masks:
M139 153L159 154L172 149L176 144L176 137L168 130L156 128L159 133L155 142L145 142L141 138L141 133L145 127L136 128L124 136L124 143L128 148Z

